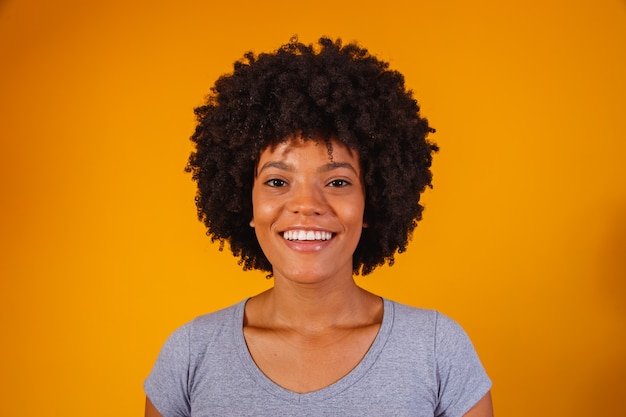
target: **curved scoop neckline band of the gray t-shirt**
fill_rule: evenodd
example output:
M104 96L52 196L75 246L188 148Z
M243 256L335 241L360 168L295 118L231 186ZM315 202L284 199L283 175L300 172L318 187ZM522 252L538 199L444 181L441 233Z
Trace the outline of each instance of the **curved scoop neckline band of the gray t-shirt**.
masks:
M340 380L332 383L327 387L321 388L316 391L300 394L290 391L276 384L258 368L256 363L254 363L254 360L250 355L250 351L248 350L246 340L243 335L243 317L246 302L248 301L248 299L245 299L236 306L235 312L232 316L232 319L234 321L232 328L234 329L233 336L235 340L235 346L237 347L237 350L239 352L239 357L241 359L243 367L250 374L252 379L264 390L276 397L292 403L301 404L321 401L338 395L339 393L348 389L350 386L354 385L357 381L363 378L363 376L365 376L365 374L369 371L372 365L376 363L378 357L380 356L380 353L387 343L393 324L394 305L390 300L386 298L382 298L382 300L383 320L380 324L380 329L378 330L378 333L374 338L374 341L372 342L369 350L367 351L363 359L361 359L361 361L357 364L357 366L355 366L352 371L350 371Z

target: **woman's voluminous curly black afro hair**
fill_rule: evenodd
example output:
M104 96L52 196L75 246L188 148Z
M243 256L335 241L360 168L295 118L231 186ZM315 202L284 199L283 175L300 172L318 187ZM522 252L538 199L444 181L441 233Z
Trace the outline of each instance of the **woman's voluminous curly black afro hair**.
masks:
M186 171L198 183L198 217L212 241L228 242L244 270L271 274L249 226L256 161L268 146L299 134L357 151L366 190L355 274L366 275L406 250L431 185L434 129L404 77L356 43L292 38L273 53L248 52L195 109L195 151Z

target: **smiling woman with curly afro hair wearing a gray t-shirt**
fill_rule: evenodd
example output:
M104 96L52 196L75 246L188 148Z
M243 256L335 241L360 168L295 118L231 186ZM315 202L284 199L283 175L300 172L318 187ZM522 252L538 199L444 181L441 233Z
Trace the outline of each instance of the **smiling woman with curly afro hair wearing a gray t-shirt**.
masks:
M146 416L492 416L463 330L356 285L406 249L433 129L356 44L246 54L196 109L198 215L274 287L165 343Z

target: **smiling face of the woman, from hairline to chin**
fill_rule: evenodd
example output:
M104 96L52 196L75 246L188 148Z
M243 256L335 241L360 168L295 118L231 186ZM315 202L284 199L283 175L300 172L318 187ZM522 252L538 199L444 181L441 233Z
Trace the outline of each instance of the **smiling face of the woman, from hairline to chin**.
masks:
M365 193L356 151L331 144L296 137L261 152L250 225L275 280L352 279Z

